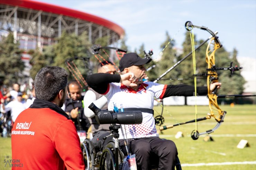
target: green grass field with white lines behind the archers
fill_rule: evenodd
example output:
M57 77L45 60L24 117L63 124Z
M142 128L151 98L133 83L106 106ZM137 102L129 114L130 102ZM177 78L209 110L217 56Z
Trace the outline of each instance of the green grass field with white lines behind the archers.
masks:
M192 140L190 134L195 129L194 123L167 129L160 134L161 138L170 139L176 143L183 170L256 169L256 105L235 105L234 107L226 105L220 108L227 111L227 115L220 128L210 134L214 141L205 142L203 140L205 135L200 136L198 140ZM154 109L155 116L161 113L161 107L157 106ZM164 125L195 118L194 106L165 106L165 109ZM207 106L198 106L198 118L205 117L208 112ZM216 124L214 118L201 121L198 122L198 130L203 132L212 129ZM181 131L184 137L176 139L174 136L178 131ZM238 149L237 144L242 139L248 140L250 147ZM1 170L10 169L4 167L6 156L11 156L11 139L0 138ZM227 162L230 162L229 165ZM203 166L202 163L204 163Z

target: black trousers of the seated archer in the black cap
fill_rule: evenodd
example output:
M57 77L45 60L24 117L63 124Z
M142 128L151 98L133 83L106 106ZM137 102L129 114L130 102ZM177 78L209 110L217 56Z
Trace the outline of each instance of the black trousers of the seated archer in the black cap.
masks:
M119 146L126 153L124 140ZM159 158L158 170L172 170L178 155L175 143L158 137L128 139L129 152L135 154L138 170L150 170L155 156Z

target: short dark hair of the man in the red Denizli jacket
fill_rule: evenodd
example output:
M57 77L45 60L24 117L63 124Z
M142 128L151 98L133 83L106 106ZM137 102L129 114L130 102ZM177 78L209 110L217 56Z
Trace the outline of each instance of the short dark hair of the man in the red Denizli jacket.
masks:
M53 101L57 94L66 89L68 73L57 66L43 67L36 74L34 87L37 99Z

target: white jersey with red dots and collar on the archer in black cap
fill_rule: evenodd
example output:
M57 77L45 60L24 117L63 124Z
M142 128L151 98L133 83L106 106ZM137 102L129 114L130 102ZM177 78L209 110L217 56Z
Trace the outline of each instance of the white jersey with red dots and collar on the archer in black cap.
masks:
M106 93L108 99L108 110L114 110L114 104L118 109L122 108L146 108L153 109L154 100L162 99L166 85L154 82L140 84L138 91L122 85L121 83L109 83ZM141 124L122 125L125 138L158 137L153 114L142 112L143 121ZM120 134L120 138L123 139Z

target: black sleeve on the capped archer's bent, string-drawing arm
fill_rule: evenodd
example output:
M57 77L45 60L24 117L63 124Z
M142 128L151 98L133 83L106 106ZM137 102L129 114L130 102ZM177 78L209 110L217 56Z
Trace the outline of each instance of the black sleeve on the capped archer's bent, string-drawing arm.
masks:
M109 83L119 83L120 79L119 74L96 73L87 76L86 82L93 90L103 94L108 90Z

